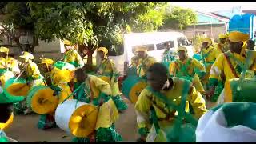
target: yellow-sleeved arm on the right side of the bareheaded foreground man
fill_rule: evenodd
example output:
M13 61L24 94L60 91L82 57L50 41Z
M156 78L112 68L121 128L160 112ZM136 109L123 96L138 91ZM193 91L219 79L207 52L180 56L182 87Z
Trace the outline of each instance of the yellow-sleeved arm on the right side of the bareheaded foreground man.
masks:
M188 101L194 110L195 118L200 118L202 114L207 112L206 109L206 101L202 98L202 95L194 88L194 86L190 87Z

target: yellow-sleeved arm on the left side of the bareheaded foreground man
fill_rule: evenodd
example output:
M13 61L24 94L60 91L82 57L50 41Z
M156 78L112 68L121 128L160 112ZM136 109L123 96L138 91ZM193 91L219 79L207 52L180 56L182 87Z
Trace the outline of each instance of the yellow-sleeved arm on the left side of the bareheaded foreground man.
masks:
M135 112L137 114L138 132L141 136L146 137L148 129L146 124L149 123L150 119L150 106L152 103L147 96L148 90L142 90L138 97L138 101L135 104Z

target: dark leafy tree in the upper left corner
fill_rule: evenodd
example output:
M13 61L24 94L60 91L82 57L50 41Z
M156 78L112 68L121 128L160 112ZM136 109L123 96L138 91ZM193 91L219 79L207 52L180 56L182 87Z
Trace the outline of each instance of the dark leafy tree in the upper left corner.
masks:
M38 46L38 38L34 35L34 21L30 17L30 10L26 2L1 2L0 3L2 34L12 38L21 50L33 52ZM21 32L33 35L32 46L23 48L19 42Z

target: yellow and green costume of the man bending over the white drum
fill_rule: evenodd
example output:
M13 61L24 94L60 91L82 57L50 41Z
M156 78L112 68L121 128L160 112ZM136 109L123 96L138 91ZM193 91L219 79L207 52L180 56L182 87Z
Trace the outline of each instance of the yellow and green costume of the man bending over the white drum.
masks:
M86 95L78 95L78 99L82 99L83 102L92 103L94 106L98 106L100 99L103 99L103 102L112 101L110 95L112 90L110 84L103 81L101 78L98 78L94 75L88 75L86 82L82 82L82 85L79 86L79 89L85 91ZM83 97L83 98L82 98ZM104 105L104 104L103 104ZM109 109L113 110L110 114L109 112L104 113L105 108L100 109L101 114L98 114L98 124L96 124L96 142L118 142L122 141L122 137L116 130L114 130L114 119L118 118L118 110L114 105L110 105ZM106 110L109 111L109 110ZM114 118L112 120L112 118ZM90 138L74 138L72 142L90 142Z

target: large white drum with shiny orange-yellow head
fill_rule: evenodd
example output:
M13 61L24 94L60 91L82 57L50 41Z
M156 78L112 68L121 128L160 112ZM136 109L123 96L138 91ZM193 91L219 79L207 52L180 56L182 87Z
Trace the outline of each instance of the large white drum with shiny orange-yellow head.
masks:
M97 117L96 106L75 99L59 104L55 111L57 126L78 138L85 138L94 131Z

